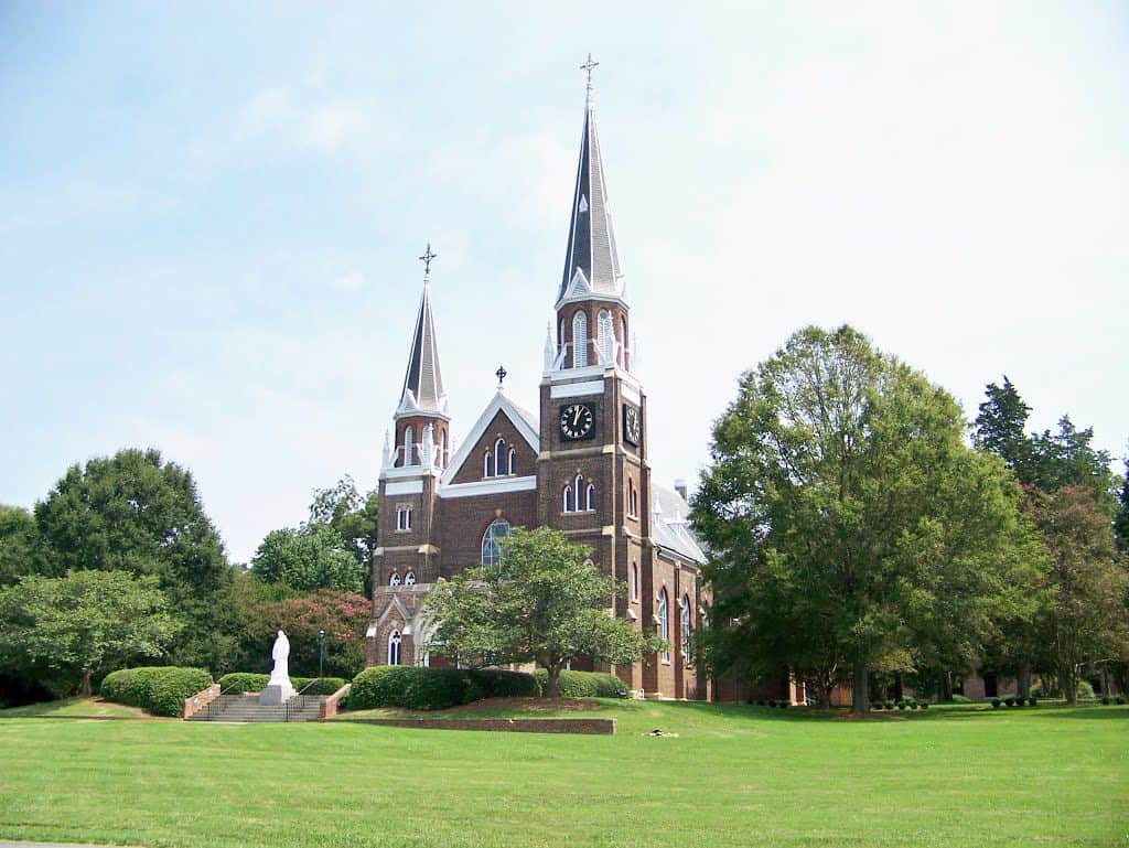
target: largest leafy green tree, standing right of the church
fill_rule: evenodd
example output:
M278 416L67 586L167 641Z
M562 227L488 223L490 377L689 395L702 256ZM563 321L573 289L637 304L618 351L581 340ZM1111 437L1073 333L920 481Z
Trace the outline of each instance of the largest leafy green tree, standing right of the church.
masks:
M717 671L787 667L826 692L971 650L1018 594L1014 482L963 444L956 402L856 330L807 327L744 375L693 519L709 543ZM726 631L729 632L726 632Z

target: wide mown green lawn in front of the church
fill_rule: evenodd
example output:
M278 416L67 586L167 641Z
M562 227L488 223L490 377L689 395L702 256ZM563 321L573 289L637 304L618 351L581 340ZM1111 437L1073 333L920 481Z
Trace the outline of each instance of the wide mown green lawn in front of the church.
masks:
M1129 707L972 705L840 722L605 701L567 715L614 717L619 733L0 720L0 838L204 848L1129 846ZM644 735L655 727L679 737Z

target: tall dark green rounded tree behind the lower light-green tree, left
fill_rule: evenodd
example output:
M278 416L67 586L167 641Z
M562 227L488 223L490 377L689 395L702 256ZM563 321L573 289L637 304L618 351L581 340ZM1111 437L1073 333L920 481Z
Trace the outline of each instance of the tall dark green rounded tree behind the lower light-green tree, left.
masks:
M72 465L34 513L58 574L157 577L185 624L172 659L224 666L235 648L227 630L235 572L187 470L154 448L119 451Z

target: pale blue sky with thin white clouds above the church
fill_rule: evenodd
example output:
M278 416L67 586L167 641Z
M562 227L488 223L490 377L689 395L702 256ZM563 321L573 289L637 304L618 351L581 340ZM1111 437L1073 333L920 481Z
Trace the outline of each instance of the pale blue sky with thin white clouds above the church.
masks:
M379 473L430 242L457 439L536 409L594 85L656 480L850 323L1129 438L1129 7L0 2L0 502L155 446L234 561Z

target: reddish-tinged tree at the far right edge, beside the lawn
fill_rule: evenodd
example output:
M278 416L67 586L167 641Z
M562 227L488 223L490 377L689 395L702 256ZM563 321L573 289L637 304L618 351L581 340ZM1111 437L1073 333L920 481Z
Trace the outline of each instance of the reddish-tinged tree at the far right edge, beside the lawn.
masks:
M1129 575L1117 562L1109 516L1092 489L1035 491L1030 509L1050 552L1049 594L1035 619L1044 666L1069 703L1087 662L1120 656L1129 632Z

